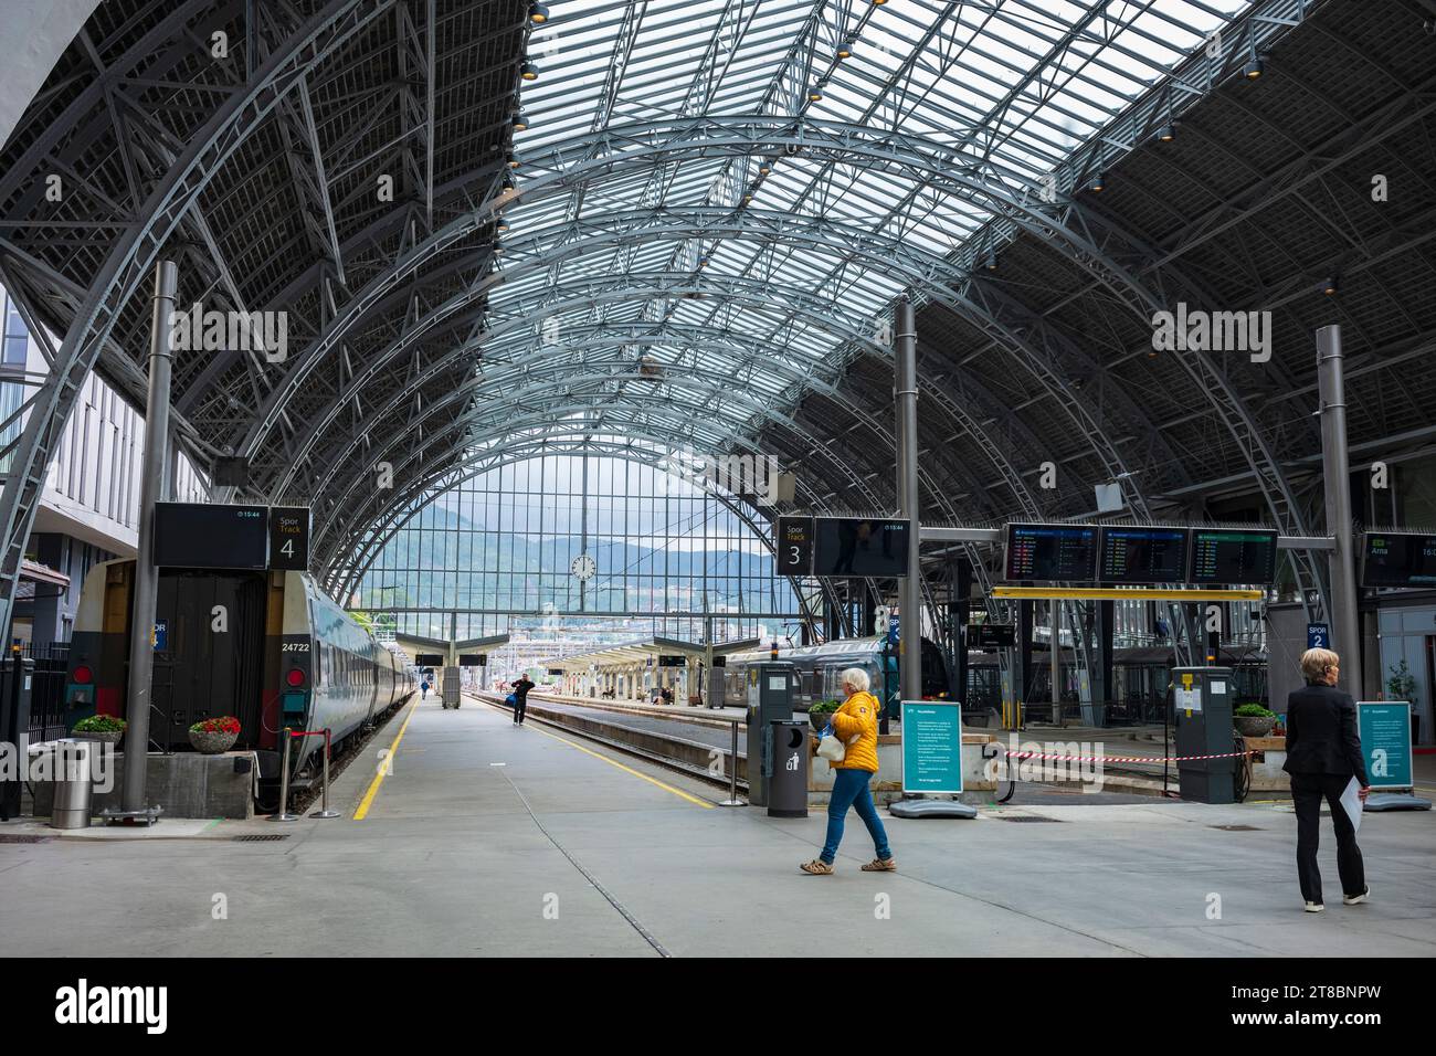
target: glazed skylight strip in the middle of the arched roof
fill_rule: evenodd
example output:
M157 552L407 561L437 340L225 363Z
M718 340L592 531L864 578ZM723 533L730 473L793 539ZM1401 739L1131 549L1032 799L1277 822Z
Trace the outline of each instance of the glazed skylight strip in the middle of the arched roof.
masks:
M887 343L899 293L922 299L916 279L991 237L975 187L1040 193L1248 7L551 4L528 42L484 392L561 365L569 407L606 404L616 425L652 391L639 369L691 443L741 443L755 401L781 412L836 382L854 342ZM747 118L758 131L729 136ZM889 164L913 144L966 182Z

